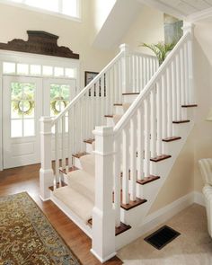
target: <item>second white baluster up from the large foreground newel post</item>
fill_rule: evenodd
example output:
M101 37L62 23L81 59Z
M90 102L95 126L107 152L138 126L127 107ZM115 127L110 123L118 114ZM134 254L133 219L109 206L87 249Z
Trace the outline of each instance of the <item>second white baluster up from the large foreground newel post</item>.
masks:
M122 203L128 204L128 128L123 129Z

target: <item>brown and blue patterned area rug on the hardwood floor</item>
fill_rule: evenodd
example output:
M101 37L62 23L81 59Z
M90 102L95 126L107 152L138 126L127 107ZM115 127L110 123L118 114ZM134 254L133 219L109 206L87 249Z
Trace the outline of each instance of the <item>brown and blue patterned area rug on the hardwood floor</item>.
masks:
M79 265L31 197L0 198L0 265Z

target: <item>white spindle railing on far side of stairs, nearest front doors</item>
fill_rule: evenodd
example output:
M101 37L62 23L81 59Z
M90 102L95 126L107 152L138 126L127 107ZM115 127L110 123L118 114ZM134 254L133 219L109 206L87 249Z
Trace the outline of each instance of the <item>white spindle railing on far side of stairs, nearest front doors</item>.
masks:
M122 93L138 92L138 88L139 91L144 88L142 76L146 75L149 69L140 64L147 60L153 62L154 67L151 73L155 73L155 57L141 53L134 55L126 44L121 45L119 54L110 64L66 106L65 110L57 115L57 118L49 119L49 126L54 133L44 134L44 138L50 137L54 141L55 162L53 163L54 176L52 176L54 189L61 186L60 167L68 171L73 166L73 155L85 151L84 140L93 138L95 126L105 124L105 115L113 115L114 103L122 103ZM134 64L135 75L130 74L132 64ZM147 77L145 80L148 81ZM45 153L51 162L51 155L49 155L51 145L48 149L43 149L42 145L41 152ZM59 185L57 185L58 182ZM45 189L48 190L48 187ZM47 199L46 194L48 192L45 192L45 196L43 194L43 199Z

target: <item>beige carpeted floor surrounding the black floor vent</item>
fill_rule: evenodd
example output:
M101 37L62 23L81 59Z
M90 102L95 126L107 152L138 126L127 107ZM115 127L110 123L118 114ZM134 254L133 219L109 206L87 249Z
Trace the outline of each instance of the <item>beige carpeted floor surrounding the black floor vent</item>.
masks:
M212 239L207 231L205 208L193 204L190 208L186 208L177 216L172 217L165 225L171 226L181 235L158 251L144 241L147 235L145 234L142 238L121 249L118 252L119 259L126 265L212 264Z

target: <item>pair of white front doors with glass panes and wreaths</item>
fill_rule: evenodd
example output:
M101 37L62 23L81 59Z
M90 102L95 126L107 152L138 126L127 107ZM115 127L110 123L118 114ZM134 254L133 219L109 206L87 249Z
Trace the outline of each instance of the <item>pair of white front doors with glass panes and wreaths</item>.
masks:
M4 76L4 169L40 163L40 116L57 116L75 87L75 79Z

